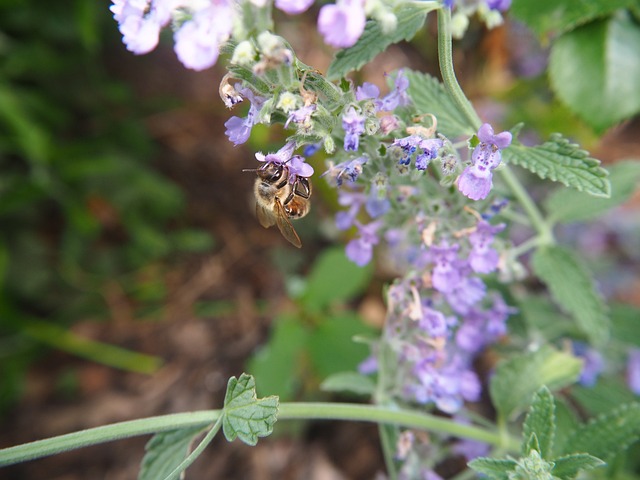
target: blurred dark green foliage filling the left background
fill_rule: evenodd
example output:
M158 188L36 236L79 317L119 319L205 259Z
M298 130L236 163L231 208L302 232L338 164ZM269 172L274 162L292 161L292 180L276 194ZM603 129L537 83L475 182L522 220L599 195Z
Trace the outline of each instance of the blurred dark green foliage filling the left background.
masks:
M106 7L0 5L0 409L16 398L38 342L97 361L103 351L114 364L113 350L66 331L106 316L107 282L141 306L158 302L161 277L136 273L211 246L177 220L183 194L152 168L144 106L105 67L105 47L120 42ZM53 329L34 327L45 319Z

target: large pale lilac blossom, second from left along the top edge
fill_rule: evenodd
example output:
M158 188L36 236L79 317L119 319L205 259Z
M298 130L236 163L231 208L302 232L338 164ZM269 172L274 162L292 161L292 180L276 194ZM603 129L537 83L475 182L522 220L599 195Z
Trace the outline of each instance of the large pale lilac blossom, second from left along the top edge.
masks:
M197 71L213 66L220 44L231 34L234 16L231 0L216 0L194 11L173 36L173 49L182 64Z

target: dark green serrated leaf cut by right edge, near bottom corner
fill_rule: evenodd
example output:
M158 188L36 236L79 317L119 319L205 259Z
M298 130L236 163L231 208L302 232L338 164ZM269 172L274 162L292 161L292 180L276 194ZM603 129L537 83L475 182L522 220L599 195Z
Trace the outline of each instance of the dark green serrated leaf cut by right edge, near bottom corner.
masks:
M578 427L567 440L564 453L589 453L607 460L640 439L640 404L623 405Z

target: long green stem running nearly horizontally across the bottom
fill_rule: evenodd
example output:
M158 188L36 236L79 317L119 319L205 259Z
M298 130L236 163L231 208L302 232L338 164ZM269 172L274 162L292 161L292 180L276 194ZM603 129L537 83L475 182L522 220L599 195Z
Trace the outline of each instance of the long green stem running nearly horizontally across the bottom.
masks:
M205 427L216 422L220 418L220 413L221 410L204 410L163 415L105 425L38 440L0 450L0 466L123 438L166 432L185 427ZM279 407L278 418L279 420L326 419L378 422L446 433L455 437L478 440L512 451L518 451L519 447L518 440L484 428L462 425L448 418L409 410L398 410L397 408L348 403L283 403Z

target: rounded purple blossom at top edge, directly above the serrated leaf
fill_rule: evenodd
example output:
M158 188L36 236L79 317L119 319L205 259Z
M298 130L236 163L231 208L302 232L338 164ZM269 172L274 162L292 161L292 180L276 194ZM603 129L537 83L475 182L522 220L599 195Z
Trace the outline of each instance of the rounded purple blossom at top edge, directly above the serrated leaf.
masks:
M318 31L327 44L346 48L360 38L365 21L364 0L338 0L335 5L320 9Z

